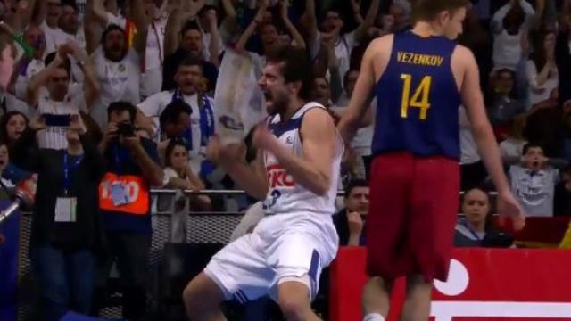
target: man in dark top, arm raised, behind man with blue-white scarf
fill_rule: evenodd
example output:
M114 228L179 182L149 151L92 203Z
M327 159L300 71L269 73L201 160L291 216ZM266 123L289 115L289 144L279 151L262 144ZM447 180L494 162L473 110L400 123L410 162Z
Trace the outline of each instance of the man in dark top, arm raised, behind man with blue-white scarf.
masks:
M211 53L210 61L204 59L203 34L196 21L196 14L200 10L200 5L200 2L189 2L182 7L170 6L164 40L165 63L162 74L162 90L176 88L175 74L178 65L188 56L198 59L202 64L203 77L206 81L202 89L213 91L216 86L218 53ZM218 40L214 39L214 41Z

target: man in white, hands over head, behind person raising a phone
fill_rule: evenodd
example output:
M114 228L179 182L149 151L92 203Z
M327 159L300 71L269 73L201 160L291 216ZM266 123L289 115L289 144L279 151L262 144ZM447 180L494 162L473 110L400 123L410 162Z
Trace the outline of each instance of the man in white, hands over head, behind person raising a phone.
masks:
M70 86L70 59L68 54L79 62L84 71L86 81L83 88ZM31 78L28 85L27 101L37 109L39 114L78 115L79 111L87 112L87 108L99 95L99 85L86 53L78 45L70 42L61 45L57 53L46 57L46 68ZM66 149L67 129L57 125L44 128L37 133L40 148Z

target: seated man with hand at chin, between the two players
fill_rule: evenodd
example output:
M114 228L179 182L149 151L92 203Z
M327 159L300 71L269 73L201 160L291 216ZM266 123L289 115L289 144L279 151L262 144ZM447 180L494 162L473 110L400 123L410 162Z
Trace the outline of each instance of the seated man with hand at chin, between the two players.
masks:
M360 246L365 243L362 234L368 213L368 182L353 180L345 188L345 209L333 216L339 235L339 245Z

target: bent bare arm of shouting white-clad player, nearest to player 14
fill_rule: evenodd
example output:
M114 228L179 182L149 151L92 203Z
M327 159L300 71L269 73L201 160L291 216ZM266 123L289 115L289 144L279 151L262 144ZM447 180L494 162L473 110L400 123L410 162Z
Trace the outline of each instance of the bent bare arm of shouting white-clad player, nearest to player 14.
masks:
M314 108L303 116L300 130L303 156L296 156L291 150L277 142L266 128L258 128L254 134L254 144L273 154L279 164L295 182L319 196L329 190L333 182L332 164L335 156L335 124L327 111Z

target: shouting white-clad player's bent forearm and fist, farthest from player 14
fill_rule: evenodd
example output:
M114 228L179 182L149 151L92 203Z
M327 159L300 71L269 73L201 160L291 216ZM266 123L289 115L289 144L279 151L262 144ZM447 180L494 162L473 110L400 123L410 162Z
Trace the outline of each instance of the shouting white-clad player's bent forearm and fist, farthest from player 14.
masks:
M263 164L263 153L258 152L252 165L245 161L244 144L222 146L219 137L214 136L208 144L208 159L218 163L228 172L234 182L257 200L265 200L268 193L268 179Z

